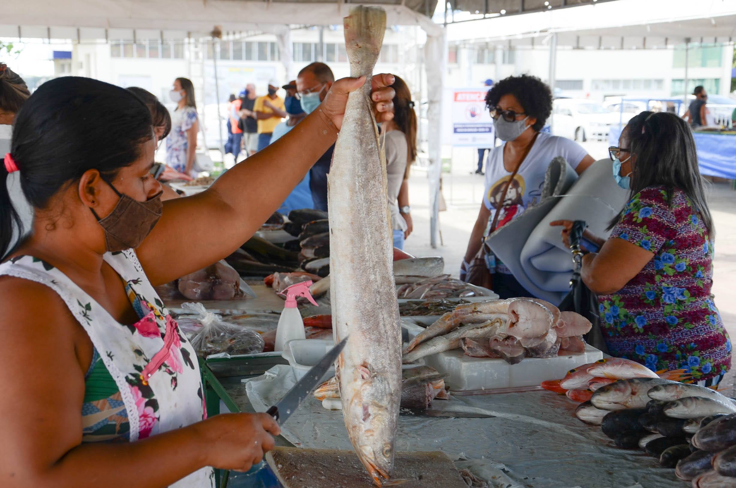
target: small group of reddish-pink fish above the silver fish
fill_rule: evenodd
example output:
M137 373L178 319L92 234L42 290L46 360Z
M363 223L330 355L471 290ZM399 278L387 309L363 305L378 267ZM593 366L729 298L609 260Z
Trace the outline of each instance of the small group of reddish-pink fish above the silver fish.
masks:
M590 400L594 391L616 380L629 378L664 378L665 380L687 380L684 369L670 372L652 372L651 369L623 358L606 358L570 369L562 380L542 381L542 388L559 394L566 394L575 402Z

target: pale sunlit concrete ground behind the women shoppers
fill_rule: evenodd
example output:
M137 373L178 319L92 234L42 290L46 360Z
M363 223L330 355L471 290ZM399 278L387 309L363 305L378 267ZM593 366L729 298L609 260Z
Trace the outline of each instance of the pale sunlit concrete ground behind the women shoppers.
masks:
M596 159L608 157L608 145L607 142L583 144ZM428 179L425 172L417 169L410 179L414 232L406 241L405 249L417 256L444 257L445 272L458 276L470 231L481 206L484 177L471 174L478 157L474 149L456 148L451 156L452 170L442 175L442 194L447 202L447 211L439 215L440 244L434 249L429 245ZM727 183L714 183L710 185L709 203L716 229L712 293L726 330L736 338L736 287L731 286L729 278L736 272L736 192ZM735 376L736 369L732 369L723 383L726 394L731 397L736 396Z

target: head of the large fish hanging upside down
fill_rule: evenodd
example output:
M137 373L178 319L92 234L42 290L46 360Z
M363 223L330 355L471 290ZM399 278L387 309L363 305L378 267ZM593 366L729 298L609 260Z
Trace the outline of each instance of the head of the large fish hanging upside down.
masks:
M345 425L355 453L377 486L383 486L394 467L394 437L398 423L398 411L386 401L392 394L400 394L401 386L389 388L389 381L381 375L368 377L353 396L343 414Z

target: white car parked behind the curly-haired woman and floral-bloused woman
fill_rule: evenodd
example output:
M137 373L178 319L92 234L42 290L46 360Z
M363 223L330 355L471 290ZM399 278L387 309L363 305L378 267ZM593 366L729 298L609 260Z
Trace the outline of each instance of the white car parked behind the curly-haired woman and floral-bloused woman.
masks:
M633 115L624 114L623 122L628 122ZM552 132L578 142L587 139L607 141L609 128L618 125L619 117L617 112L591 100L560 98L553 102Z

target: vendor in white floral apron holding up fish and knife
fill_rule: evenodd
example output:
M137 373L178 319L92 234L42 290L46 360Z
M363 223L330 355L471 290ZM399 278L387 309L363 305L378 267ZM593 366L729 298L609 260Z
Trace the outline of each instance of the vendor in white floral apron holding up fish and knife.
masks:
M151 115L130 91L63 77L29 97L0 165L0 486L201 488L212 467L261 461L278 425L207 418L197 356L153 286L248 240L335 142L364 83L337 81L300 130L163 203ZM379 122L392 83L373 77ZM19 243L26 202L9 183L34 209Z

